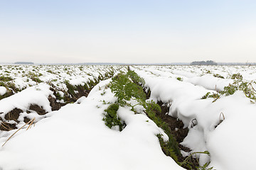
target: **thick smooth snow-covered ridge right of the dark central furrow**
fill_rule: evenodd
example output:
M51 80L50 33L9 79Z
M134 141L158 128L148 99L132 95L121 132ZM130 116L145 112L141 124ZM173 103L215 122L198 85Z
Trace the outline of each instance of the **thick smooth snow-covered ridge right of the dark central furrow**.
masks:
M203 87L135 71L151 90L149 100L171 102L169 115L188 126L188 136L181 144L192 152L210 152L210 157L198 154L201 165L210 160L210 166L218 170L253 169L256 106L242 91L212 103L212 98L201 99L208 91Z

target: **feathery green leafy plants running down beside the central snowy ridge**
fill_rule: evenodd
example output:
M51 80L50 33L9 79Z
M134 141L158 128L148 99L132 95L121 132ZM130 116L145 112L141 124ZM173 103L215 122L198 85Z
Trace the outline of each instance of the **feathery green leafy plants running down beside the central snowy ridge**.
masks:
M117 111L119 107L129 106L131 107L131 111L134 111L137 114L137 111L134 109L134 106L130 104L130 100L134 99L137 101L137 105L141 105L145 108L144 113L156 123L156 125L163 129L166 135L168 135L169 140L165 141L161 134L156 135L159 139L159 143L161 145L161 149L163 150L166 156L173 158L177 164L180 166L186 167L188 169L193 169L189 159L185 159L183 162L178 161L178 157L181 156L180 149L178 147L178 142L176 142L175 137L171 134L171 128L157 116L161 113L161 107L155 103L154 101L146 102L146 94L143 91L142 86L144 86L144 79L139 77L134 71L128 70L127 74L121 72L117 74L117 76L112 78L112 82L110 83L110 89L114 96L117 97L117 101L115 103L110 104L107 109L105 109L105 117L103 120L105 121L105 125L109 128L118 127L119 131L122 131L126 124L123 120L121 120ZM209 154L208 152L202 152L198 154ZM192 157L193 154L191 154ZM209 162L203 166L198 166L196 169L213 169L212 167L207 168Z

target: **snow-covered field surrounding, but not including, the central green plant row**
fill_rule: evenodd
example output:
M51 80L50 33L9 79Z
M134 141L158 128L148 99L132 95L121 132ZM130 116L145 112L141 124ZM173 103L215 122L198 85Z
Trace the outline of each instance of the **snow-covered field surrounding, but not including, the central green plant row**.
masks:
M255 66L130 69L151 91L148 101L169 104L166 114L188 128L184 157L208 151L193 154L201 166L210 162L206 169L255 169ZM127 67L1 65L0 169L183 169L162 152L156 135L168 136L142 106L139 114L119 107L121 132L105 125L105 109L117 101L111 77L119 72Z

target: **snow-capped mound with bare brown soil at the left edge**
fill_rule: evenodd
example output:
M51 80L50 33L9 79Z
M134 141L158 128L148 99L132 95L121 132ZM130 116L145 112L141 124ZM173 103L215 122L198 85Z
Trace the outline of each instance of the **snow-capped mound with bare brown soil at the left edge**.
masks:
M45 114L52 111L49 96L53 96L50 86L38 84L18 94L3 98L0 101L0 139L6 140L6 137L14 133L16 128L25 125L26 120L35 118L36 123L46 118ZM43 111L43 114L35 110Z

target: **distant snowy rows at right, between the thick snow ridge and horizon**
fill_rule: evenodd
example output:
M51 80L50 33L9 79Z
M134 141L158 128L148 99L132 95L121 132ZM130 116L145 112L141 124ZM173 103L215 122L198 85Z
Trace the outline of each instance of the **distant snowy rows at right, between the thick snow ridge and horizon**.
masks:
M245 81L256 80L255 66L137 66L159 77L181 78L196 86L209 90L222 91L225 86L233 84L233 74L241 74ZM222 78L219 78L223 77Z

